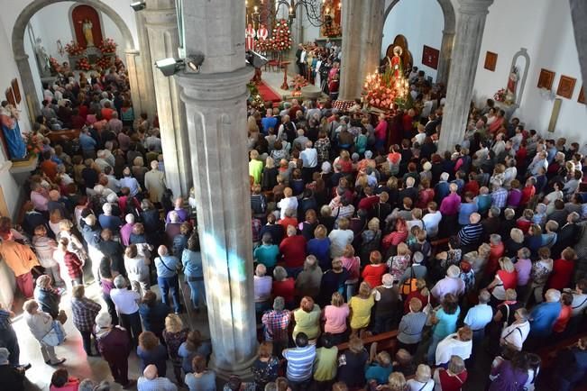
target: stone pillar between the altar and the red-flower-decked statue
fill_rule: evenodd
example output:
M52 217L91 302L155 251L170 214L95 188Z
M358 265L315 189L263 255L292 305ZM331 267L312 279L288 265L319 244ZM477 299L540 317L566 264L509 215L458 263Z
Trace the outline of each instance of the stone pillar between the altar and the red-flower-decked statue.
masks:
M384 0L348 0L343 5L343 58L339 99L361 96L367 74L379 67Z

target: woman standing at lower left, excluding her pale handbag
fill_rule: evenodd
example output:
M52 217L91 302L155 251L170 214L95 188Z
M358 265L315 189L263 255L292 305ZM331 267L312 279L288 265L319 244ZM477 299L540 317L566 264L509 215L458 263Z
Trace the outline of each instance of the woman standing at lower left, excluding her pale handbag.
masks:
M53 327L59 327L53 324L53 318L50 314L43 313L39 304L35 300L27 300L23 305L24 320L29 326L32 336L39 341L41 345L41 354L45 363L57 366L62 364L65 359L58 359L55 355L55 346L53 341L49 341L47 336ZM62 330L62 329L61 329ZM49 343L48 343L49 342Z

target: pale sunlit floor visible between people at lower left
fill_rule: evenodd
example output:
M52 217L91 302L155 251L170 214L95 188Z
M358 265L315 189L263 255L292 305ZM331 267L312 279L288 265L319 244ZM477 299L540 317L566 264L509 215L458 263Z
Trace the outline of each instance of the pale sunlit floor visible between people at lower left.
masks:
M102 304L103 311L105 311L105 303L99 296L99 287L96 284L87 286L87 296ZM157 286L153 286L153 290L158 293ZM91 378L97 381L110 380L113 381L110 375L110 368L104 359L100 357L87 357L86 352L82 347L81 335L75 328L71 321L71 310L69 305L69 297L63 296L60 307L68 314L68 322L65 323L65 330L68 334L63 345L56 348L56 354L60 358L67 359L61 368L66 368L69 371L69 376L83 378ZM209 335L207 328L207 315L205 312L201 314L183 314L185 322L189 322L192 330L197 328L204 335ZM190 319L188 321L188 318ZM21 347L21 362L30 362L32 368L26 372L28 390L49 390L50 377L56 368L50 367L43 362L39 342L32 337L28 326L23 320L22 316L18 316L13 323L14 330L18 336L18 341ZM135 353L131 353L129 358L129 377L136 379L140 376L140 363ZM168 377L175 380L173 371L168 362ZM2 381L0 380L0 390L2 390ZM113 390L122 390L122 387L114 384ZM9 390L5 390L9 391Z

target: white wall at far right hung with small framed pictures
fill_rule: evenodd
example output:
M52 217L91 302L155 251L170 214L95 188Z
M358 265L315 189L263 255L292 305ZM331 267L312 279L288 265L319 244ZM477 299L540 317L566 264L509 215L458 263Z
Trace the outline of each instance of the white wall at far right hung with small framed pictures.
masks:
M582 77L567 1L495 0L490 7L483 34L473 91L475 100L481 104L506 86L511 59L522 47L527 48L530 68L520 108L515 115L527 123L527 128L536 129L549 137L587 142L587 132L584 130L587 106L577 102ZM483 68L487 50L498 53L495 72ZM546 132L546 129L554 101L541 97L537 88L541 68L555 72L554 92L561 75L577 79L571 99L557 96L563 99L563 103L553 133Z

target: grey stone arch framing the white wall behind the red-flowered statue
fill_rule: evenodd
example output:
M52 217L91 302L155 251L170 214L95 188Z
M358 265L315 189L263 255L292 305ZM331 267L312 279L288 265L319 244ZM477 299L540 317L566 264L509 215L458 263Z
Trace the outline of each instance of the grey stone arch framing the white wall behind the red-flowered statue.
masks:
M438 68L436 73L436 82L443 83L445 86L448 82L448 71L450 69L451 55L453 51L454 32L456 31L456 15L451 0L437 0L442 10L445 25L443 27L443 37L438 58ZM394 6L398 5L399 0L386 0L385 14L383 20L387 20L388 15ZM417 56L416 53L414 55Z

